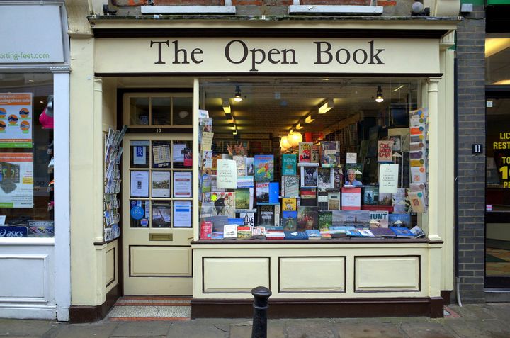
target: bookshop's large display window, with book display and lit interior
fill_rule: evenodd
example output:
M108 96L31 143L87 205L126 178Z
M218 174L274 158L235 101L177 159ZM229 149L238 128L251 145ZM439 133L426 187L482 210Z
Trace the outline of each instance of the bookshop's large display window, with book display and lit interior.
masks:
M200 240L424 237L420 95L416 79L203 79Z

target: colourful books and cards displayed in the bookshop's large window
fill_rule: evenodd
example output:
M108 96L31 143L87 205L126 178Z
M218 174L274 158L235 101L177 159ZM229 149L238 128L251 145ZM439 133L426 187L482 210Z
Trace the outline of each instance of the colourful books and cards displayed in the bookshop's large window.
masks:
M358 152L351 126L348 147L331 135L271 154L237 140L211 147L212 125L200 111L200 240L425 236L416 213L426 212L426 110L410 112L399 135L370 128Z

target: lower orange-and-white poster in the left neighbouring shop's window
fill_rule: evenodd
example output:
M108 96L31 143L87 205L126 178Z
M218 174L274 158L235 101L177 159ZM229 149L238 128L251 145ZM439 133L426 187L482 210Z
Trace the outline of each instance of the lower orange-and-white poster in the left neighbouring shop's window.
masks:
M33 154L0 153L0 208L33 208Z

